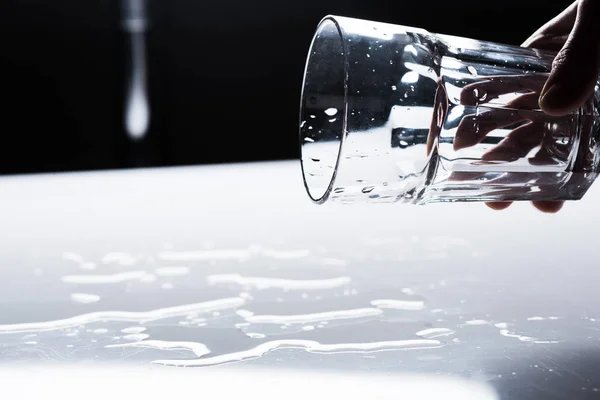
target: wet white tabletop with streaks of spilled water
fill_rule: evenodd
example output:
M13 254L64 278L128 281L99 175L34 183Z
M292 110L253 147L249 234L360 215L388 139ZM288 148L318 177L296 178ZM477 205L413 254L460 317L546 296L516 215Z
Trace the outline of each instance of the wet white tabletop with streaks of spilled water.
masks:
M600 186L556 215L317 206L297 162L0 187L0 377L15 388L77 365L107 382L117 367L165 384L420 374L500 399L600 397Z

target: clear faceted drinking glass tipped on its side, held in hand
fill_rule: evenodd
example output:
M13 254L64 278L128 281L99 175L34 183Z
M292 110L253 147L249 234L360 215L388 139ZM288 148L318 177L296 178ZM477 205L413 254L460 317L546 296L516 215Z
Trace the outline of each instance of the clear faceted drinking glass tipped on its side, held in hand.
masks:
M580 199L597 175L600 91L544 114L555 53L327 16L313 38L300 145L311 199Z

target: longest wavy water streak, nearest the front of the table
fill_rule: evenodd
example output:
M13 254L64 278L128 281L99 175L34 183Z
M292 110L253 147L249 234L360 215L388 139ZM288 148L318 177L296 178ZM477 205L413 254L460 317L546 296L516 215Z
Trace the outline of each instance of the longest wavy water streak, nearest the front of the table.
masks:
M143 343L143 342L142 342ZM322 344L313 340L274 340L259 344L258 346L236 353L223 354L219 356L200 358L194 360L156 360L154 364L178 366L178 367L200 367L213 366L232 362L247 361L260 358L265 354L278 349L299 349L309 353L337 354L337 353L374 353L380 351L398 350L424 350L442 347L443 344L437 340L396 340L385 342L368 343L336 343Z

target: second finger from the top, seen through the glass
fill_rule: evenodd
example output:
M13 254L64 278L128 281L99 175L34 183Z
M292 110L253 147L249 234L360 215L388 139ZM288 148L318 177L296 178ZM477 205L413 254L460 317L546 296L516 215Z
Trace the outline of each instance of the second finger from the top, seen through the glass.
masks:
M516 111L489 110L481 114L465 116L454 135L454 151L471 147L481 142L490 132L514 125L523 121L523 117Z

